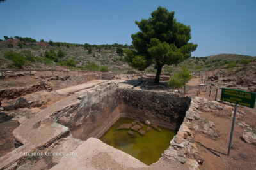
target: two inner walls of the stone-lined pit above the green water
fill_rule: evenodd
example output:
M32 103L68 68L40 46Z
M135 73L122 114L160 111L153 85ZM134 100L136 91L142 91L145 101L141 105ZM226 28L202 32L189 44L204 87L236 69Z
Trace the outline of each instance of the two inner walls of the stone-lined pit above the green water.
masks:
M178 131L191 98L173 93L123 89L109 83L81 97L80 104L68 106L51 117L69 127L74 138L100 138L122 117L132 118ZM172 139L170 139L171 141Z

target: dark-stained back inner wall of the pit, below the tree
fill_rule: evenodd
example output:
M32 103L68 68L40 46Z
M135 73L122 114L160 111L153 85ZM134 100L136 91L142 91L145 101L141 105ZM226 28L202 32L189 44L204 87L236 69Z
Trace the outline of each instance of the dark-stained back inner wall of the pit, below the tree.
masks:
M120 117L150 120L177 131L191 101L190 97L168 92L119 89Z

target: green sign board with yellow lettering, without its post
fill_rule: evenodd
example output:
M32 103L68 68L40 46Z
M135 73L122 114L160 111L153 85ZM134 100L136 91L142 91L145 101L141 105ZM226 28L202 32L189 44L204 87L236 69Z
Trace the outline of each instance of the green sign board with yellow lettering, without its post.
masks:
M230 103L236 103L249 108L255 106L256 93L246 92L236 89L222 88L221 101L228 101Z

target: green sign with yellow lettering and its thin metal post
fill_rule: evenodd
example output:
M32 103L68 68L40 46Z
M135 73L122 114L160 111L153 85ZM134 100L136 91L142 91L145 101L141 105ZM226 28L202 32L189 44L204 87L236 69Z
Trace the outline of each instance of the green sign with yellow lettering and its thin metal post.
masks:
M227 102L236 104L235 110L234 110L234 115L233 115L229 145L228 145L228 155L230 154L230 149L231 149L231 145L232 145L233 132L234 132L234 127L235 127L235 122L236 122L237 104L246 106L249 108L254 108L255 99L256 99L256 93L254 93L254 92L246 92L246 91L242 91L242 90L227 89L227 88L222 88L222 90L221 90L221 101L227 101Z

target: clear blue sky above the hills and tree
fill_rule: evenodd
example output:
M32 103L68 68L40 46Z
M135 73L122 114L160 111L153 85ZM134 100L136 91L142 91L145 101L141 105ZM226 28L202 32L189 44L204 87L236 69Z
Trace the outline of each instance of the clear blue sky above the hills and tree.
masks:
M90 44L131 44L136 20L163 6L177 21L191 26L192 55L256 55L256 1L218 0L6 0L0 3L0 39L28 36L36 40Z

